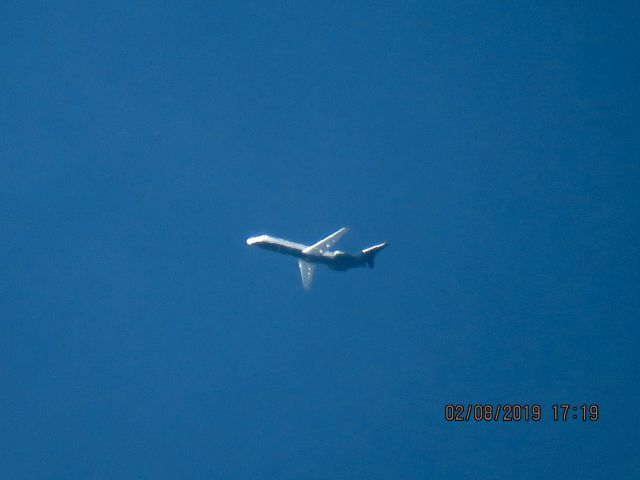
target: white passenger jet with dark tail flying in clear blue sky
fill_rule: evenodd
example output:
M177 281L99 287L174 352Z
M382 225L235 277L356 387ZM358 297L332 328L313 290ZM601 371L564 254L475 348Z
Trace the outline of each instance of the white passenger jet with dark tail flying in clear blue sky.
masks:
M389 245L388 242L380 243L365 248L357 255L350 255L340 250L330 251L329 249L333 247L347 231L347 228L341 228L311 246L290 242L289 240L283 240L269 235L247 238L247 245L297 257L298 267L300 267L300 275L302 277L302 286L308 290L311 287L313 272L317 264L324 264L332 270L341 271L364 266L373 268L376 253Z

